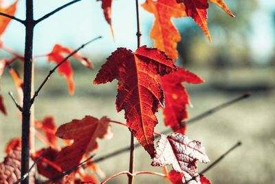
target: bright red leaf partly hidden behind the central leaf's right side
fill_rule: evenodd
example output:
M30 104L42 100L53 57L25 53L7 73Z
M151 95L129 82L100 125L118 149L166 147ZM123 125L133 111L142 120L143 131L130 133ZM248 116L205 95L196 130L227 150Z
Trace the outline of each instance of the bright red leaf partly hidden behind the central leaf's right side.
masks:
M190 100L182 83L203 83L203 79L178 67L176 72L159 76L159 81L165 94L164 123L172 127L175 132L184 134L186 126L181 126L181 121L188 118L187 105L190 104Z

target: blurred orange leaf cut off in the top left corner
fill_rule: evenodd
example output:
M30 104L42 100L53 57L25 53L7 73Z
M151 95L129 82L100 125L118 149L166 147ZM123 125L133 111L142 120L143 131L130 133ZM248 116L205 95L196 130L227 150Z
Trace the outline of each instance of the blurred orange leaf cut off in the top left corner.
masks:
M12 5L8 6L7 8L0 7L0 12L14 16L15 11L17 10L17 2L18 0L14 1L14 3L12 3ZM5 32L5 28L7 28L11 20L12 19L8 17L0 16L0 36L3 34L3 32Z

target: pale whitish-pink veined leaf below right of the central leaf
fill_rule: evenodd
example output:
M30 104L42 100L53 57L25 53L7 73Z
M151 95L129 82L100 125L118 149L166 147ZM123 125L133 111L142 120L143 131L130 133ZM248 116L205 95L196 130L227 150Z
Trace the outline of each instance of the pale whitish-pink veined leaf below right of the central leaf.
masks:
M162 135L157 142L156 153L151 165L172 165L176 172L183 174L182 182L191 181L199 184L199 174L196 162L208 163L204 147L199 141L191 141L184 134L172 133Z

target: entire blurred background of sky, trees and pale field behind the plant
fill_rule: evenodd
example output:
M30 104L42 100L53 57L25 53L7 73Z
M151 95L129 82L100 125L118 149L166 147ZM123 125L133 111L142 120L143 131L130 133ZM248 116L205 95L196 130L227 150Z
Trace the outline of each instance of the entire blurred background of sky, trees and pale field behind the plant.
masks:
M8 1L12 2L12 1ZM34 1L34 17L38 19L47 12L68 1ZM142 1L140 1L142 3ZM190 18L173 19L181 32L178 44L178 65L195 72L206 80L202 85L187 85L192 108L192 118L216 105L234 99L246 92L252 96L212 114L187 127L190 139L205 145L211 161L217 159L236 141L243 145L229 154L221 163L205 175L212 183L275 183L275 1L272 0L225 0L236 15L229 17L210 3L208 25L212 41L209 42L197 24ZM18 3L16 16L25 18L25 1ZM153 46L149 32L154 21L153 14L140 8L142 45ZM83 0L58 12L37 25L34 32L34 55L47 54L59 43L72 50L86 41L102 35L100 39L80 51L95 65L89 70L72 60L76 92L69 96L67 82L63 76L54 74L36 99L35 117L54 116L57 125L85 115L100 118L108 116L124 122L124 112L115 111L116 81L106 85L93 85L96 73L105 59L118 47L136 48L135 2L113 1L112 23L114 39L109 25L104 20L101 2ZM24 29L12 21L3 34L3 43L23 53ZM10 57L0 51L1 59ZM35 61L35 86L43 81L54 66L46 58ZM21 63L14 65L22 72ZM1 79L1 93L8 115L0 114L0 158L5 156L8 141L21 136L21 123L8 92L16 93L13 81L5 71ZM157 113L159 124L156 132L166 130L162 113ZM129 145L130 134L124 127L113 125L114 137L100 141L96 156L107 154ZM36 141L37 147L43 144ZM99 163L107 176L128 170L129 154L124 153ZM150 158L139 148L136 151L135 170L162 169L151 167ZM119 163L119 164L118 164ZM202 170L207 165L199 165ZM165 183L157 176L137 176L136 183ZM126 176L119 176L109 183L126 183Z

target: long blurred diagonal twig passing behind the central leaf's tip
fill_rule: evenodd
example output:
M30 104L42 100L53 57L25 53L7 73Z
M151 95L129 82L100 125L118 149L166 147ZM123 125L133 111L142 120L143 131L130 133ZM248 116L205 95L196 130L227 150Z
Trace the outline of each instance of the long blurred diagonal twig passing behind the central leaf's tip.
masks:
M188 123L188 124L189 123L195 123L195 122L197 122L197 121L199 121L201 119L206 118L207 116L210 116L210 115L212 115L212 114L214 114L216 112L219 112L220 110L223 110L224 108L227 108L228 106L230 106L230 105L232 105L234 103L237 103L237 102L239 102L239 101L241 101L243 99L247 99L249 96L250 96L250 94L243 94L243 95L237 97L236 99L232 99L232 100L230 100L228 102L221 103L220 105L217 105L216 107L214 107L214 108L212 108L210 110L207 110L206 112L203 112L203 113L201 113L201 114L193 117L189 121L185 121L185 123ZM162 132L162 134L167 134L169 132L171 132L170 129L165 130L164 132ZM157 136L155 136L155 137L157 137ZM136 143L135 147L140 147L140 143ZM94 163L98 163L100 161L104 161L106 159L109 159L109 158L111 158L113 156L117 156L117 155L122 154L124 152L128 152L129 150L130 150L130 147L123 147L123 148L121 148L119 150L115 150L114 152L111 152L111 153L106 154L104 156L100 156L98 159L95 159L93 162Z

